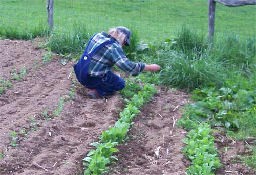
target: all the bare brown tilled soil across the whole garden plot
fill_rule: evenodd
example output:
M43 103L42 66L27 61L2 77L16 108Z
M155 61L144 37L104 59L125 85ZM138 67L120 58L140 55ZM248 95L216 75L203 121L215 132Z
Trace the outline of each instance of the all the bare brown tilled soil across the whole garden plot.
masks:
M57 56L42 65L42 53L34 41L0 40L0 77L11 80L10 71L16 66L29 68L22 81L11 80L13 87L0 96L0 174L83 174L82 159L92 148L90 143L98 141L102 130L113 126L124 103L118 93L109 99L93 100L84 96L86 88L77 84L73 99L68 100L74 74L72 63L61 65ZM37 43L37 42L36 42ZM59 101L65 97L61 114L45 121L41 116L47 109L52 114ZM158 95L141 109L129 132L127 144L118 147L119 161L112 165L112 174L184 174L189 161L181 154L185 131L176 127L181 117L183 102L188 101L184 92L159 88ZM177 105L179 108L176 108ZM175 110L174 110L175 109ZM40 123L37 130L30 127L29 116ZM174 119L174 120L173 120ZM173 123L175 125L173 127ZM18 134L17 147L9 145L9 134L25 128L26 139ZM216 136L218 137L218 136ZM221 137L224 137L223 135ZM245 144L226 139L217 144L224 167L216 174L252 174L243 165L232 163L231 155L245 153ZM155 149L159 149L159 156ZM56 164L55 164L56 163ZM39 166L53 168L43 169ZM238 167L236 167L238 165Z

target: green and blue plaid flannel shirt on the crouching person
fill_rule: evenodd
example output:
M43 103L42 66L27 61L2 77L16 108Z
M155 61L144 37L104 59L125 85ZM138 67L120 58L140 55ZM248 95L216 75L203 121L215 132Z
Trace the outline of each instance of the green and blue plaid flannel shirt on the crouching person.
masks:
M98 33L89 43L88 53L101 43L110 39L115 40L115 38L105 32ZM114 65L117 65L124 72L130 73L133 76L139 74L145 67L144 63L131 62L125 56L122 47L118 42L115 42L103 46L92 56L88 73L92 77L102 77L106 72L110 71L111 67Z

